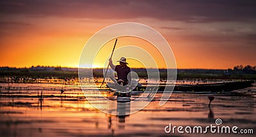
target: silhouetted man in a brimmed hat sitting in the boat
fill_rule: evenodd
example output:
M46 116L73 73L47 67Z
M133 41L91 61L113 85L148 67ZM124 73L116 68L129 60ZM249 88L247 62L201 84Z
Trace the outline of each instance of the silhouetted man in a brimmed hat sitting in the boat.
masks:
M128 73L131 72L131 68L127 66L127 62L125 57L121 57L119 61L120 65L114 65L112 59L109 59L109 66L116 71L117 73L117 80L116 82L119 83L120 85L127 85L129 83L129 80L127 78Z

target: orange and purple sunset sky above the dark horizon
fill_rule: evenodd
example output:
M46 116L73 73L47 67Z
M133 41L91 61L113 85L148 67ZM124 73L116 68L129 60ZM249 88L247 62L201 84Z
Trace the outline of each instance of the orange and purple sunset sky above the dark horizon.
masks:
M76 68L86 41L120 22L138 22L160 32L177 68L256 66L255 1L103 0L1 1L0 66ZM106 54L111 54L113 40L109 45Z

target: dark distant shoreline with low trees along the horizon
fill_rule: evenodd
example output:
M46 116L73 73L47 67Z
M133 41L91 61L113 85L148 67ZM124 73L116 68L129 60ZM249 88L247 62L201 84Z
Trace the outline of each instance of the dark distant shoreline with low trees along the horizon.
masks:
M87 75L91 69L82 69ZM146 69L132 69L140 78L147 78ZM167 78L167 70L159 69L161 79ZM25 76L29 78L77 78L77 68L61 68L61 66L32 66L31 68L9 68L0 67L0 78L5 76L20 77ZM103 77L103 69L93 69L93 76ZM247 79L256 80L256 66L234 66L233 69L177 69L177 79Z

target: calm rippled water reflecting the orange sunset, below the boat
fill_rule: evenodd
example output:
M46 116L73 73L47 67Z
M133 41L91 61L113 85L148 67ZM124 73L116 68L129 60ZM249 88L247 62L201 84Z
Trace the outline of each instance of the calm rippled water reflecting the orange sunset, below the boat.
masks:
M60 96L60 90L65 92ZM88 87L88 92L93 89ZM43 99L40 99L42 92ZM256 87L224 93L173 92L164 106L159 106L162 94L137 113L115 116L102 113L86 101L76 84L1 83L0 136L255 136ZM102 92L111 99L113 92ZM39 96L39 97L38 97ZM140 96L133 95L132 99ZM214 96L211 108L208 96ZM102 104L104 105L104 104ZM129 106L126 109L129 109ZM237 126L253 129L254 134L166 134L172 126Z

